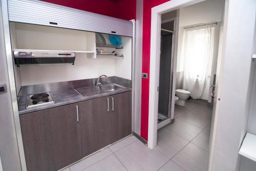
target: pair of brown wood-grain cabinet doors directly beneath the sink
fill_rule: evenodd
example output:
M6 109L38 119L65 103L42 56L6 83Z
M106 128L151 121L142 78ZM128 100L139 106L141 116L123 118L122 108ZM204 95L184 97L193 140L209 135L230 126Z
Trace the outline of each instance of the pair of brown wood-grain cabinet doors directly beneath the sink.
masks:
M132 134L132 92L82 101L79 109L83 156Z

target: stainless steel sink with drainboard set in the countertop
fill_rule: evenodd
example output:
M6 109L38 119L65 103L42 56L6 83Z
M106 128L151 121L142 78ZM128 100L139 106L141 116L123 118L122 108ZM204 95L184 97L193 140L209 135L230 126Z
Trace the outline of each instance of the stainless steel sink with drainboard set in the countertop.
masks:
M78 91L83 96L93 96L102 93L113 92L117 90L125 89L125 87L119 86L118 84L106 84L100 87L87 87L87 88L77 88Z

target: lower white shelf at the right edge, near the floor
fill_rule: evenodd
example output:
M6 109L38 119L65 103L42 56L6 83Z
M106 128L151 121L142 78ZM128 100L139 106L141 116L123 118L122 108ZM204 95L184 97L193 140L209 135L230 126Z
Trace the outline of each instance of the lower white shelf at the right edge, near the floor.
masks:
M239 154L256 161L256 135L246 133L243 143L239 149Z

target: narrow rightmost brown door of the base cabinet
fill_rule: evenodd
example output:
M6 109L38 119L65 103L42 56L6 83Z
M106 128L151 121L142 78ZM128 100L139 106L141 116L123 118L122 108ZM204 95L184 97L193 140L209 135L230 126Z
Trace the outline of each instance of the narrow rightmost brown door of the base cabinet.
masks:
M132 92L113 95L111 96L111 143L131 134Z

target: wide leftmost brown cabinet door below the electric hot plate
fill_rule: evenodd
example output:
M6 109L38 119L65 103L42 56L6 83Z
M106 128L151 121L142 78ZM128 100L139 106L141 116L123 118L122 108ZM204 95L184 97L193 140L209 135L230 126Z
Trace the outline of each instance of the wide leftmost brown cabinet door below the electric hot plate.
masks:
M76 104L20 115L28 170L58 170L82 158Z

